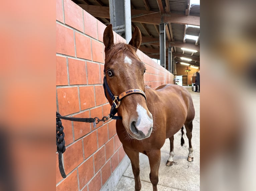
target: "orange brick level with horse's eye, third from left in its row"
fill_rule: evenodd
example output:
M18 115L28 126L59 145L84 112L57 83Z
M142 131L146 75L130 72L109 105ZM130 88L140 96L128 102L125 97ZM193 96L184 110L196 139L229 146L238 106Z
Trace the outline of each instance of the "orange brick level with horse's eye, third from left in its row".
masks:
M88 84L100 84L100 66L97 63L87 62Z

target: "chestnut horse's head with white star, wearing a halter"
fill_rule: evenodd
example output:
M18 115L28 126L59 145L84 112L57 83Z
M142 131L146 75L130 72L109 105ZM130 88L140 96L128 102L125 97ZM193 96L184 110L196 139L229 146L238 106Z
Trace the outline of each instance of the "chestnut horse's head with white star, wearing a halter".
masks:
M153 119L147 108L144 93L146 67L136 55L141 43L140 30L135 27L129 44L114 44L112 25L109 25L104 31L103 42L105 79L112 94L120 98L117 106L118 115L122 116L123 125L131 138L147 138L152 132ZM109 103L116 104L109 93L106 90L105 92Z

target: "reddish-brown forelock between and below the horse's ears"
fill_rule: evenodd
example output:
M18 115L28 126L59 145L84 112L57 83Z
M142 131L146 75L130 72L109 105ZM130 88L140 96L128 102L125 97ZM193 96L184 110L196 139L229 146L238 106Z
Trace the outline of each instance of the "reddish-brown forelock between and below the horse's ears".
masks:
M133 55L138 57L136 54L136 49L133 46L125 43L117 43L114 44L110 49L105 48L105 63L121 51L130 51Z

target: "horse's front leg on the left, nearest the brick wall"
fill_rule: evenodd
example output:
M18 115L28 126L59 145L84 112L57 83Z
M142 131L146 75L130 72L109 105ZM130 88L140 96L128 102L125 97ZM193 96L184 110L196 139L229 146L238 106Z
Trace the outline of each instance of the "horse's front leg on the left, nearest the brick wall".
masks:
M135 191L139 191L141 189L139 152L129 150L125 147L123 147L123 148L124 148L125 153L128 155L129 159L131 160L132 172L133 172L134 180L135 180Z

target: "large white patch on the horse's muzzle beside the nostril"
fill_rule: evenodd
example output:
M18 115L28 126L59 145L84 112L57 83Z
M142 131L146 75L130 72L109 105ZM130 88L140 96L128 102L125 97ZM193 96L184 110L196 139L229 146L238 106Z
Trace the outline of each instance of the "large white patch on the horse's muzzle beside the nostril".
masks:
M137 122L135 123L135 126L139 131L142 131L145 134L145 136L147 136L147 134L149 133L149 129L153 127L152 115L151 117L148 116L147 110L140 104L137 104L136 111L138 113L138 119Z

